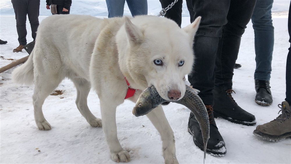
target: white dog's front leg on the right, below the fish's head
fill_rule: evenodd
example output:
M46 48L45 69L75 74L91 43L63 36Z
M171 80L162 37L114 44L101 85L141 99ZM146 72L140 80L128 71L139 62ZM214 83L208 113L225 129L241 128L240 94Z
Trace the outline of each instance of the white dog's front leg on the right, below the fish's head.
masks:
M152 124L161 135L165 163L178 163L176 157L174 132L168 123L162 107L158 106L150 111L150 113L146 116L148 116Z

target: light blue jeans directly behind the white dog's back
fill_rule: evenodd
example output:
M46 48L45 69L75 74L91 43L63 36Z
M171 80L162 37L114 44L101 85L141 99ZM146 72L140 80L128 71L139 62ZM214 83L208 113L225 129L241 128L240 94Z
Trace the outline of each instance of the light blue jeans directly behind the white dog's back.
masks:
M147 15L148 1L147 0L126 0L127 6L131 15ZM125 0L106 0L108 18L122 17L124 11Z

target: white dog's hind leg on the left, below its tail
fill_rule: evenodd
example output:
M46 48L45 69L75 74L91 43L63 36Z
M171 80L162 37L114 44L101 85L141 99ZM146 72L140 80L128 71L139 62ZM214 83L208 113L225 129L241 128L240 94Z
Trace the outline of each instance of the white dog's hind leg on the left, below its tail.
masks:
M42 105L45 99L56 89L62 78L48 74L35 75L35 87L32 96L34 119L39 130L50 130L51 125L47 122L42 113Z

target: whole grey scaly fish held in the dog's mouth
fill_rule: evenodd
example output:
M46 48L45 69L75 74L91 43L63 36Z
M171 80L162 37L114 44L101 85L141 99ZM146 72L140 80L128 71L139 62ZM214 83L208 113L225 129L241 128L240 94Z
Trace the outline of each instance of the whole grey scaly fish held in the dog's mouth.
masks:
M136 102L132 113L138 117L148 114L152 109L157 107L159 104L163 102L167 102L168 100L163 99L159 93L157 92L154 86L148 87L145 89L139 99ZM175 102L178 104L182 104L189 108L191 112L194 114L196 120L200 125L200 129L202 132L203 143L204 143L204 159L206 157L206 147L209 139L210 133L210 124L208 113L203 101L198 96L198 94L189 86L186 85L186 92L184 97L178 101L168 101Z

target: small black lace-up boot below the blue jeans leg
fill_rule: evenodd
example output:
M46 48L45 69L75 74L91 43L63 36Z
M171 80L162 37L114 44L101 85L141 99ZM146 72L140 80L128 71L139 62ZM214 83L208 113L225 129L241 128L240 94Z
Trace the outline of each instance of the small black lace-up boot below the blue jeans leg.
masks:
M269 80L255 80L255 102L262 106L269 106L273 102Z

